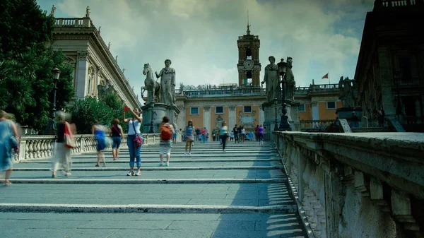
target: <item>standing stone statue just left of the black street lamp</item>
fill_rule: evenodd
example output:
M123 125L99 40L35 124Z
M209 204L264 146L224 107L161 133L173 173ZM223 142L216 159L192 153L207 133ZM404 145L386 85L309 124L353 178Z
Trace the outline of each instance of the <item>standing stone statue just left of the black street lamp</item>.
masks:
M269 56L268 59L270 64L265 67L264 81L261 84L266 83L267 101L272 102L274 98L281 99L281 85L276 58Z

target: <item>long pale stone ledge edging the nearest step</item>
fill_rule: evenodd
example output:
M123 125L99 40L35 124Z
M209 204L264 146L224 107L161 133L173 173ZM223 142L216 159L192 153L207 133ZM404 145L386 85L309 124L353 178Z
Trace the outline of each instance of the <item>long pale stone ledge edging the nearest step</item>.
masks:
M32 213L296 213L295 203L279 206L206 206L206 205L86 205L0 203L1 212Z

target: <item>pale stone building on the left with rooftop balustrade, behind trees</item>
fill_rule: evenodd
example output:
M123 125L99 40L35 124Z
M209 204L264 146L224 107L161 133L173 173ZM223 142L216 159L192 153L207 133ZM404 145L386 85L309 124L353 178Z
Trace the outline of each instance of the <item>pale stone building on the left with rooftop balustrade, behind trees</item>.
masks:
M89 16L84 18L56 18L52 41L53 49L61 49L66 61L73 66L74 100L98 97L102 93L116 93L128 107L141 107L117 57L110 53Z

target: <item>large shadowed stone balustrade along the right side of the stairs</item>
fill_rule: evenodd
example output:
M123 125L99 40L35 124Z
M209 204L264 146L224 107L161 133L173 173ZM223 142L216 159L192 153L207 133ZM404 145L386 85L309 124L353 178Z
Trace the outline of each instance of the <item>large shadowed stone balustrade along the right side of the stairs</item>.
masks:
M273 136L308 237L423 237L424 133Z

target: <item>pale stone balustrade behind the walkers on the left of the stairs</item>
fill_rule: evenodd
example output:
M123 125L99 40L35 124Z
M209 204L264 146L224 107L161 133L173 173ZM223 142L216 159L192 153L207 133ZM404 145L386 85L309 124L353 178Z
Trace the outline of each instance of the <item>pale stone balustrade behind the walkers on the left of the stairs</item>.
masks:
M160 134L143 134L143 145L155 145L159 143ZM19 160L35 160L48 159L54 154L55 136L20 136L19 138L19 153L13 155L13 159ZM81 154L90 151L95 151L97 141L93 135L76 135L76 148L73 148L72 154ZM121 148L128 148L126 138L122 140ZM107 148L111 148L109 145Z

